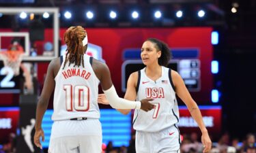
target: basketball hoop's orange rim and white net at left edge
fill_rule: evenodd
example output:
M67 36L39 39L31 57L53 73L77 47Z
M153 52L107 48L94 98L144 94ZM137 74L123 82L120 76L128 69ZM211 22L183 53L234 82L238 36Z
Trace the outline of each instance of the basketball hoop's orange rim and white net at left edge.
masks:
M5 67L10 67L14 71L14 75L20 74L20 63L22 60L23 51L2 51L0 52L0 58L3 59Z

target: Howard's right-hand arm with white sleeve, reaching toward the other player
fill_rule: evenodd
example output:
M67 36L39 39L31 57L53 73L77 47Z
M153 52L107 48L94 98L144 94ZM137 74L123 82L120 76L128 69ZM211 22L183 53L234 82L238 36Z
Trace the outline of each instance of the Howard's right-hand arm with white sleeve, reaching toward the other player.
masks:
M98 61L96 61L96 63L97 62ZM109 101L111 107L116 109L143 109L145 112L150 111L154 108L154 105L149 102L153 99L142 99L141 101L128 101L126 99L119 98L111 80L109 67L100 62L98 62L96 67L98 68L98 70L96 70L96 75L100 80L100 84L102 86L104 94L106 95L106 99Z

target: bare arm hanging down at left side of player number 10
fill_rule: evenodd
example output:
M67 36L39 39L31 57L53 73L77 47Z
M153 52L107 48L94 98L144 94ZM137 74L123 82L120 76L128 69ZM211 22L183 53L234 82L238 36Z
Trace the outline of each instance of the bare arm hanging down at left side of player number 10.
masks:
M40 137L42 137L42 141L44 141L44 131L42 130L42 118L48 107L48 101L51 97L53 89L55 88L55 80L53 74L55 61L56 60L51 61L51 63L48 66L46 79L44 81L44 87L42 89L40 99L38 100L38 105L36 107L34 143L35 146L38 146L41 149L42 144L40 143Z

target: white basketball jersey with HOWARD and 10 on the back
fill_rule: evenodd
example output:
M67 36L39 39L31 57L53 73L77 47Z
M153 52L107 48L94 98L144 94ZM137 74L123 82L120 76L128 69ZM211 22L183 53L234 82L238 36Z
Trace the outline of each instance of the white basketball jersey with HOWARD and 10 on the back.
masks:
M90 56L83 55L84 66L66 63L65 56L59 72L55 77L55 93L53 99L52 120L67 120L70 118L100 118L98 107L98 84L91 67Z

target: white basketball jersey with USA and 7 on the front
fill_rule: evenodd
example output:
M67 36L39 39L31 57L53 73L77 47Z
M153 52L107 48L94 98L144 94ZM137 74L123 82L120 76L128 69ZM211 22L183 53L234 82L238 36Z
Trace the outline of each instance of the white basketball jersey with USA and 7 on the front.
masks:
M137 131L157 132L173 126L179 120L179 111L175 91L171 84L171 69L162 67L162 76L153 81L145 74L145 68L140 70L138 80L137 101L153 98L155 108L149 112L136 109L133 117L133 128Z

